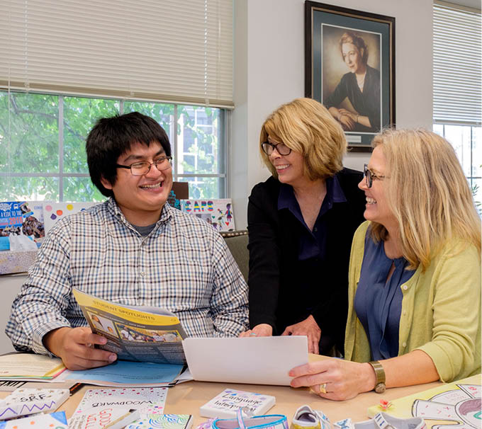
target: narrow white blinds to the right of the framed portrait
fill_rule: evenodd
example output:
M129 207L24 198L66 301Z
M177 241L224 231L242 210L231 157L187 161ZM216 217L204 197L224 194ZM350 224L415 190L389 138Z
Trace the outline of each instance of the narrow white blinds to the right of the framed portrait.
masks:
M434 4L434 122L481 124L481 13Z

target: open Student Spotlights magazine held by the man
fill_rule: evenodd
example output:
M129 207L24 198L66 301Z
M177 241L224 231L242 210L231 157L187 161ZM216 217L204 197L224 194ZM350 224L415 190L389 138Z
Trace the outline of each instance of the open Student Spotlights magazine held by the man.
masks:
M103 350L120 360L184 364L182 341L187 337L177 316L157 307L116 304L73 290L92 329L107 338Z

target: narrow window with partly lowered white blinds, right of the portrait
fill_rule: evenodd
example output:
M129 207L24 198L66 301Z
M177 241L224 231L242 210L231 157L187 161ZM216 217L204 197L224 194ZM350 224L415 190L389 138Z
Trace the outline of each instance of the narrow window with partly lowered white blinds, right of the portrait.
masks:
M454 147L482 212L481 12L434 3L434 125Z

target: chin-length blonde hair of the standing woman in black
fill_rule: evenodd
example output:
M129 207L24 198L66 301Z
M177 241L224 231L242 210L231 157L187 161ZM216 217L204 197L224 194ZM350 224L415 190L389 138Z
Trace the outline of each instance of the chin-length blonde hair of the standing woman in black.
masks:
M305 175L311 181L333 176L343 168L347 140L342 127L327 108L312 98L296 98L281 105L261 127L259 150L264 164L277 178L276 168L261 149L268 136L303 155Z

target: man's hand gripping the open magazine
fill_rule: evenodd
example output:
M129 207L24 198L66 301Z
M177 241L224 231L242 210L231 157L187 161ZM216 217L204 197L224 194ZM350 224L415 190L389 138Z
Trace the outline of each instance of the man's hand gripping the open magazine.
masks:
M90 328L57 328L43 337L47 350L62 359L69 370L103 367L117 359L116 353L94 348L107 343L106 338L92 333Z

